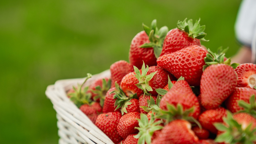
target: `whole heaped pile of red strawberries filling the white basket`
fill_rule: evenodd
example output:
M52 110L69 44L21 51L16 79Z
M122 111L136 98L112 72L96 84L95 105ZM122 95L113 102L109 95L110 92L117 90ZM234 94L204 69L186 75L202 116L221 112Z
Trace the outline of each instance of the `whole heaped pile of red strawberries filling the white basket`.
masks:
M202 48L199 21L143 24L130 63L68 96L115 144L255 144L256 65Z

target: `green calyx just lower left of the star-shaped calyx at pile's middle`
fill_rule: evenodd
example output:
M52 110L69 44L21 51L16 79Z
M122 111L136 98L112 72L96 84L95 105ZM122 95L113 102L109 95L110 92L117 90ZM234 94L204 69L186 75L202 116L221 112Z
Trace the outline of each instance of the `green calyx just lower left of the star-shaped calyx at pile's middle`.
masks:
M114 107L116 107L115 110L121 108L120 111L121 111L121 113L123 115L124 113L128 113L126 108L128 107L128 105L132 104L130 102L131 99L138 99L137 93L127 97L125 95L124 91L119 87L117 82L115 82L115 87L116 87L116 90L110 92L109 94L112 94L112 93L115 94L114 95L114 99L116 99L115 104L114 104Z

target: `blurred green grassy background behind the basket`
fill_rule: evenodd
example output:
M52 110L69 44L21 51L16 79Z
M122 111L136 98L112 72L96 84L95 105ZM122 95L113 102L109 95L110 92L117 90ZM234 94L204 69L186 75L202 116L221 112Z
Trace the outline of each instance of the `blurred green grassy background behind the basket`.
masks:
M239 49L234 23L241 0L0 1L0 143L56 144L56 113L45 96L56 80L100 73L128 61L142 22L175 28L201 18L212 51Z

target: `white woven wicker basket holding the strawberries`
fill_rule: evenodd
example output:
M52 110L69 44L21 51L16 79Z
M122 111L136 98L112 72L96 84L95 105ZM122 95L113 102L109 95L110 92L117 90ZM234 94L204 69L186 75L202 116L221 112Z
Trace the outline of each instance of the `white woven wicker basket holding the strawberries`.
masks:
M110 77L110 71L93 75L85 86L103 77ZM85 78L59 80L46 89L45 94L57 112L59 144L114 144L66 95L73 85L82 84L84 80Z

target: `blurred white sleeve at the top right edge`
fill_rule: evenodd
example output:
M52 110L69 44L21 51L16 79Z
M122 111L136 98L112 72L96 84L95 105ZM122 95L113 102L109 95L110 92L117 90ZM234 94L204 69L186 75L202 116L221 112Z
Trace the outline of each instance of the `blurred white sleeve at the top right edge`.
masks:
M239 42L252 45L256 31L256 0L243 0L237 14L235 34Z

